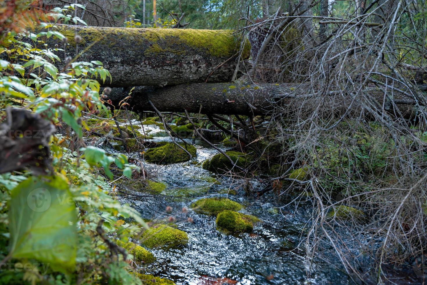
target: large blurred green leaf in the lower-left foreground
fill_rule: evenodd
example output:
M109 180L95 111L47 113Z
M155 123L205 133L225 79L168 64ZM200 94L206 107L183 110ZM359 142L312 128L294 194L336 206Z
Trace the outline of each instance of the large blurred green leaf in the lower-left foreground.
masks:
M71 272L76 263L76 222L76 204L64 179L30 177L11 193L9 254Z

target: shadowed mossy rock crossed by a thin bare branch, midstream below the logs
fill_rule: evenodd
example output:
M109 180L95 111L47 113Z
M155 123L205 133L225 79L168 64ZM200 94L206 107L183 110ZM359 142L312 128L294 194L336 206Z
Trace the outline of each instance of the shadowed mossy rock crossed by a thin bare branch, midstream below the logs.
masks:
M238 151L226 151L231 160L240 167L246 167L252 161L252 156L249 154L241 153ZM230 160L226 158L222 153L214 155L211 159L205 160L203 162L203 169L215 172L215 173L224 173L233 168L234 165L231 164Z

